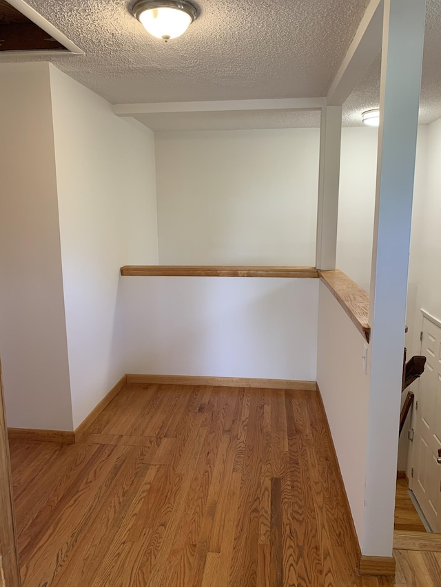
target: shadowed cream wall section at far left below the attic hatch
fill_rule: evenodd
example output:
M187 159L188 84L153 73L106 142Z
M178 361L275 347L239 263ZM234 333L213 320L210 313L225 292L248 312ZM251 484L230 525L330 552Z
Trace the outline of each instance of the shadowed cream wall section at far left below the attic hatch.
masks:
M0 65L0 354L10 427L72 430L47 63Z

